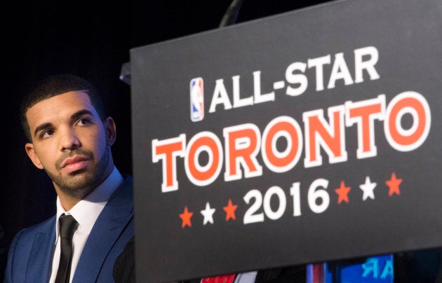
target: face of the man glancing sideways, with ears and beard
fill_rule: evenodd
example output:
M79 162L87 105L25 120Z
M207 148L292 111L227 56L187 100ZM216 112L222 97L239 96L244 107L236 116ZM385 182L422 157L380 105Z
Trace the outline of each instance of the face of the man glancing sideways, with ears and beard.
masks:
M82 91L43 100L26 113L32 144L25 149L57 190L84 198L112 172L112 118L104 121Z

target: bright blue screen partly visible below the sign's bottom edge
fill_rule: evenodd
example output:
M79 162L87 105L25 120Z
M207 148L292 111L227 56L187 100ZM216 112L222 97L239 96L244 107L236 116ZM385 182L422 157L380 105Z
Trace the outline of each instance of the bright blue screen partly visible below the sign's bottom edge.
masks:
M307 265L307 283L394 282L393 255Z

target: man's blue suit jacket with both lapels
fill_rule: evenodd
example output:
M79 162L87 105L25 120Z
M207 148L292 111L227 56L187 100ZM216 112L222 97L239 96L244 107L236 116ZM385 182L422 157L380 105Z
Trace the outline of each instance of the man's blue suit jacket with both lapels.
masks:
M4 282L49 282L55 243L55 216L15 235ZM115 259L133 236L133 181L126 177L95 222L72 282L114 282Z

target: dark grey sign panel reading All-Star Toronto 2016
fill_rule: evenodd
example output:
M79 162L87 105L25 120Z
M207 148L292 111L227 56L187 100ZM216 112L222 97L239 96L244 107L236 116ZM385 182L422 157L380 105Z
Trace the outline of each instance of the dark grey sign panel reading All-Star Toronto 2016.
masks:
M441 246L441 31L336 1L131 50L138 280Z

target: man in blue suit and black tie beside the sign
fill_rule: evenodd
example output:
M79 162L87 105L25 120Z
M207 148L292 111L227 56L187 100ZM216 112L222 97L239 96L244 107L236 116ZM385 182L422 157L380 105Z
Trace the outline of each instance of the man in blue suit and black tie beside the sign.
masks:
M114 262L134 235L132 179L112 159L114 120L93 85L73 75L37 84L21 115L26 153L51 177L57 214L15 235L5 282L113 282Z

